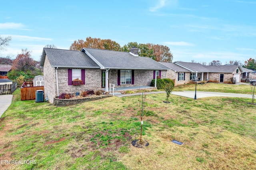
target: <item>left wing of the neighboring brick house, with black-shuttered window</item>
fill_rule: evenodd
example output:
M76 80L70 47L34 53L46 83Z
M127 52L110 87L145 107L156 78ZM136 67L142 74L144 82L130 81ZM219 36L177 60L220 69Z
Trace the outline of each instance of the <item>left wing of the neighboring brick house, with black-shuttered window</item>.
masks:
M170 78L174 81L174 86L188 84L190 82L190 70L174 63L160 63L170 68L169 70L167 70L167 78Z

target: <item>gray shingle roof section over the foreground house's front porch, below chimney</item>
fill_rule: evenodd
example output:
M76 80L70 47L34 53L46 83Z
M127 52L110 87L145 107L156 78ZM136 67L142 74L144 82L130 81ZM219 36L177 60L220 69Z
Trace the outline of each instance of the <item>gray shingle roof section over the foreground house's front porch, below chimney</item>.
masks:
M128 52L84 48L105 68L167 70L168 67L148 57L135 57Z

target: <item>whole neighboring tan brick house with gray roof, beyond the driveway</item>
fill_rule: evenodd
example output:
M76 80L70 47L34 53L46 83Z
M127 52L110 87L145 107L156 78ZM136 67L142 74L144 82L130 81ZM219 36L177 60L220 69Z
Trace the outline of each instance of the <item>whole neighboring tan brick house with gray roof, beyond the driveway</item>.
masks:
M204 66L200 63L181 61L160 63L170 68L170 70L167 71L167 78L174 80L176 82L175 86L195 81L196 76L198 77L198 81L205 82L232 83L232 77L236 78L236 82L240 82L240 77L243 72L242 67L238 65ZM171 75L175 76L173 77Z

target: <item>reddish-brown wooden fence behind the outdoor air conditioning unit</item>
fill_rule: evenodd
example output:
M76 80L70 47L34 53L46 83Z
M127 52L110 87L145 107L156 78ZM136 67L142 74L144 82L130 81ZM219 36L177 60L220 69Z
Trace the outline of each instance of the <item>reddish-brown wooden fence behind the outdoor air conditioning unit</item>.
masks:
M20 88L21 100L35 100L36 99L36 90L44 90L44 86Z

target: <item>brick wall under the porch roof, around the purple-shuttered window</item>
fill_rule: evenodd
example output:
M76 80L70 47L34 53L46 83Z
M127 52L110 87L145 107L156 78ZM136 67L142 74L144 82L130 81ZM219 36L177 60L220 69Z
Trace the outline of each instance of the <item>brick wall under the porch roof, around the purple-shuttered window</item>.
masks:
M117 70L109 70L109 83L116 87L150 86L154 76L154 70L134 70L134 84L122 84L117 86ZM166 70L161 70L161 78L166 78Z

